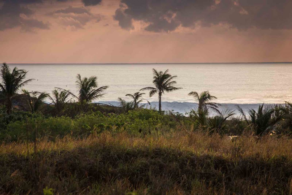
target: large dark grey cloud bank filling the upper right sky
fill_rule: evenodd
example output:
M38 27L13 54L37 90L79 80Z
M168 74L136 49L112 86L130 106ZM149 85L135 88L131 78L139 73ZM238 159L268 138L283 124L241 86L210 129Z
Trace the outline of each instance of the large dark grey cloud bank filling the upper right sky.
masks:
M292 29L291 9L289 0L121 0L114 19L128 30L133 29L133 20L145 22L145 30L152 32L171 32L196 24Z

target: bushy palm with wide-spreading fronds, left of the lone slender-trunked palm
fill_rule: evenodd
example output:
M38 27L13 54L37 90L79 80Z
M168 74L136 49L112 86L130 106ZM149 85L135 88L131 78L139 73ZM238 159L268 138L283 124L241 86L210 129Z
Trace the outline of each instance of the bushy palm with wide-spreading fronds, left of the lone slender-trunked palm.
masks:
M75 83L76 88L78 89L78 95L74 95L68 90L67 92L70 93L73 97L77 98L77 100L81 102L81 104L92 102L95 99L103 97L105 95L105 93L103 92L109 87L103 86L98 88L96 76L91 76L89 78L87 77L81 78L80 74L77 74L76 79L77 80Z

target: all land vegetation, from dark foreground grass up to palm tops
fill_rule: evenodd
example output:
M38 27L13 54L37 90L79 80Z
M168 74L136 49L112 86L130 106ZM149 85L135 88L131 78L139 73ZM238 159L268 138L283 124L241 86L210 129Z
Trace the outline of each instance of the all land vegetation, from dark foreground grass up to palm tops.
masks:
M119 106L91 103L108 88L95 76L77 76L78 95L17 94L27 72L4 64L0 194L291 194L291 102L238 107L236 117L193 91L196 108L165 112L162 94L180 88L168 70L153 72L155 88L142 90L158 93L159 111L140 92Z

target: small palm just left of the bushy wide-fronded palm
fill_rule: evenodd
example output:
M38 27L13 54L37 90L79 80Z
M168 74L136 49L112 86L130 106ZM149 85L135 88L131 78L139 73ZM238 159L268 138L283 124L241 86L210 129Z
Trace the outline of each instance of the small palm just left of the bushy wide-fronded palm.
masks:
M69 98L71 93L64 89L54 89L52 94L52 96L49 95L49 98L55 106L57 115L60 116L63 112L65 104L71 100L71 98Z

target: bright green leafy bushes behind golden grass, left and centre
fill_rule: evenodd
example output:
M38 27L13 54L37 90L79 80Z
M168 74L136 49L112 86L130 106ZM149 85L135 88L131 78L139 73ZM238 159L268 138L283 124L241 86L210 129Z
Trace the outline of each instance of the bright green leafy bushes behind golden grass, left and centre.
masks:
M75 119L65 116L46 118L41 115L31 115L20 117L19 120L11 120L0 132L0 139L6 142L35 140L42 137L54 140L64 135L84 137L104 130L112 133L126 131L129 134L143 135L155 130L160 134L175 128L177 124L172 116L149 109L137 109L124 114L93 112L80 114Z

